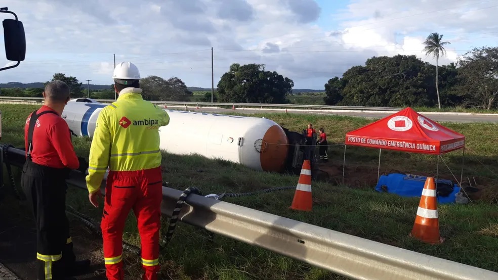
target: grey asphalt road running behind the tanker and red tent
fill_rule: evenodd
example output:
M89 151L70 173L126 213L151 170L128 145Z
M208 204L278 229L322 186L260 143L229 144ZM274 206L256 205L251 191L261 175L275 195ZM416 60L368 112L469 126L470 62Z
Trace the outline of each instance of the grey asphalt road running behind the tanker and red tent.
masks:
M182 110L181 108L170 107L172 110ZM283 113L281 110L272 110L272 109L215 109L215 108L188 108L189 111L197 111L197 112L205 112L205 113L221 113L226 114L230 112L238 112L244 114L259 114L259 113ZM353 116L353 117L363 117L363 118L383 118L394 114L395 112L386 113L386 112L340 112L340 111L321 111L321 112L313 112L310 111L287 111L290 114L310 114L310 115L338 115L338 116ZM425 113L420 112L422 115L437 121L437 122L461 122L461 123L498 123L498 114L490 116L490 115L480 115L480 114L462 114L462 115L446 115L441 113Z

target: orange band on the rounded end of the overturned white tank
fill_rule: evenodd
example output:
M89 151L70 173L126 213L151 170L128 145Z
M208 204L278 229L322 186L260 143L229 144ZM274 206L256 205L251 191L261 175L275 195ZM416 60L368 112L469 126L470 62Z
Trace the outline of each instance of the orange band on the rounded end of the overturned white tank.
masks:
M279 125L273 125L266 131L263 136L263 145L265 144L267 147L260 154L261 168L263 171L282 171L287 158L288 140Z

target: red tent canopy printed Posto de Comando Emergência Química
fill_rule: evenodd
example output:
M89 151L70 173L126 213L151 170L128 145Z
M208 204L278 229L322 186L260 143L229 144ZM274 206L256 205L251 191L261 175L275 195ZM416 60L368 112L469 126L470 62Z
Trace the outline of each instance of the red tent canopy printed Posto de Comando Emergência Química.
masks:
M465 146L465 136L411 108L346 133L346 145L441 155Z

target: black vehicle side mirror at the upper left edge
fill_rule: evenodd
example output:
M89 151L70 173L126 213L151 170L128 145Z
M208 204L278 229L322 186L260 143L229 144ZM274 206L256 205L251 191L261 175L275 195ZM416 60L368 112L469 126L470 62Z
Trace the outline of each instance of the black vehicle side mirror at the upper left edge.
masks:
M15 19L5 19L2 23L4 26L5 54L7 60L17 61L16 65L0 68L0 71L19 66L26 56L26 36L24 26L17 19L14 12L7 11L7 8L0 8L0 13L14 15Z

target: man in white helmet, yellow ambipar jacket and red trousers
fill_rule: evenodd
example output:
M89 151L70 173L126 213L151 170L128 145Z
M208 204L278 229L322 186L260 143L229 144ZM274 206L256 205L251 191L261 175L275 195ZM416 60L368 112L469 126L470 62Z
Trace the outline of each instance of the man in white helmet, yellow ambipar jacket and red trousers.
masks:
M142 245L143 279L157 279L162 201L159 127L168 113L142 98L140 73L133 63L116 65L112 78L119 95L97 118L90 148L87 188L99 206L100 185L107 167L102 234L106 275L123 280L122 231L130 210L137 217Z

